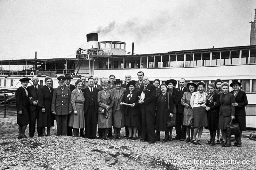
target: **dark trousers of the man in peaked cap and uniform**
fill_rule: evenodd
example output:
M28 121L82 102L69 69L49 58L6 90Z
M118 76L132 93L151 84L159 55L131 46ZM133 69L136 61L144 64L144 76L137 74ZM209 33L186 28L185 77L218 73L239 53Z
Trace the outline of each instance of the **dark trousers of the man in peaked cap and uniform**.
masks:
M68 115L55 115L57 124L56 136L67 136Z

